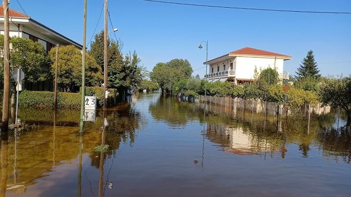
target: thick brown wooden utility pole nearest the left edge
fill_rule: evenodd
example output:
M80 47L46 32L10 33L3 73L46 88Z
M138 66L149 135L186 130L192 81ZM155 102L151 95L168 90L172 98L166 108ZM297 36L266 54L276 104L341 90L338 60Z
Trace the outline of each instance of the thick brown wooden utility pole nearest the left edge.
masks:
M10 108L10 33L9 33L9 2L3 0L4 7L4 98L2 131L9 129L9 108Z

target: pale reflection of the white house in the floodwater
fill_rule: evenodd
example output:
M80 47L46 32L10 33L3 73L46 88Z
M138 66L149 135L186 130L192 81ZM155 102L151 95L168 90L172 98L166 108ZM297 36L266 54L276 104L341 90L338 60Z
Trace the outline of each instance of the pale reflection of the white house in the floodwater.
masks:
M208 124L207 137L223 147L225 152L237 155L253 155L260 152L275 152L280 148L266 137L258 137L255 133L244 131L243 127L232 128L225 125Z

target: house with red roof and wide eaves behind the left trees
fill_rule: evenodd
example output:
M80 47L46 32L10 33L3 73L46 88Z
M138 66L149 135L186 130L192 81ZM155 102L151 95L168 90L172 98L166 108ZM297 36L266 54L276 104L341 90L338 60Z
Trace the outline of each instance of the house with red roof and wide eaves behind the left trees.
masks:
M10 37L17 36L20 38L29 38L34 42L41 43L45 50L49 52L51 48L59 45L73 44L82 49L82 45L78 42L58 33L57 31L45 26L44 24L32 19L30 16L9 9L9 30ZM0 6L0 33L4 34L4 8ZM54 84L52 82L25 82L25 89L39 91L53 91Z

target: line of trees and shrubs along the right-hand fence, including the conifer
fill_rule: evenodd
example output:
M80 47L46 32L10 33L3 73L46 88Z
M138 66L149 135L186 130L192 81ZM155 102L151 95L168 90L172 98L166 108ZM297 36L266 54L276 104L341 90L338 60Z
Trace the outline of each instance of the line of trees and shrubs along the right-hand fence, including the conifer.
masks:
M288 92L284 92L284 83L275 68L259 72L255 69L253 82L233 86L229 82L210 83L199 76L191 76L191 65L183 59L156 64L150 72L150 80L168 93L196 97L205 94L206 86L207 95L276 102L291 111L299 111L303 105L322 103L344 109L347 124L351 124L351 75L321 77L317 66L311 50L302 60L296 75L290 76Z

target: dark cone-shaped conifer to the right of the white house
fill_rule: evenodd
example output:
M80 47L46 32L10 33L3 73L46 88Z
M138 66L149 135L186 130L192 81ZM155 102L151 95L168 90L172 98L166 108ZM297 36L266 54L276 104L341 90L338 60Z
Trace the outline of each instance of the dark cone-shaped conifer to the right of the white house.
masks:
M306 77L314 77L319 78L319 70L317 68L317 62L315 61L315 57L313 55L313 51L310 50L307 53L307 56L303 58L300 67L297 68L296 78L298 80Z

